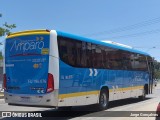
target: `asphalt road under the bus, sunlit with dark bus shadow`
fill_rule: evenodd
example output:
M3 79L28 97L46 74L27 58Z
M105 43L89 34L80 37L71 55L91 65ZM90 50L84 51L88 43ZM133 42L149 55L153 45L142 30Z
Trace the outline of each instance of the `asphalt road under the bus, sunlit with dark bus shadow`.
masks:
M137 98L130 98L125 100L117 100L109 103L109 108L105 111L96 111L94 105L73 107L71 111L61 111L54 108L43 108L43 107L27 107L27 106L15 106L8 105L4 102L3 99L0 99L0 111L29 111L36 112L41 111L42 114L49 116L55 115L54 119L57 119L57 116L63 117L63 119L72 119L72 120L155 120L155 117L129 117L128 115L132 114L142 114L146 115L149 113L155 114L157 105L160 102L160 84L153 91L151 95L147 95L144 101L140 101ZM146 113L147 112L147 113ZM136 114L135 114L136 113ZM64 117L65 116L65 117ZM113 117L114 116L114 117ZM115 117L117 116L117 117ZM1 118L11 119L11 118ZM17 120L17 118L12 118ZM22 119L22 118L19 118ZM24 118L23 118L24 119ZM31 118L29 118L31 119ZM62 119L62 118L61 118Z

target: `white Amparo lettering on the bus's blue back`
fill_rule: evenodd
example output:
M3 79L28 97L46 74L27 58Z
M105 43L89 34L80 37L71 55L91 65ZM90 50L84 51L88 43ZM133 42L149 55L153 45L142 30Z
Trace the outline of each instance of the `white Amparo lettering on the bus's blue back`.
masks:
M16 50L16 51L29 51L29 50L35 50L35 49L42 49L44 47L44 41L23 41L23 42L17 42L14 41L13 45L11 46L10 51Z

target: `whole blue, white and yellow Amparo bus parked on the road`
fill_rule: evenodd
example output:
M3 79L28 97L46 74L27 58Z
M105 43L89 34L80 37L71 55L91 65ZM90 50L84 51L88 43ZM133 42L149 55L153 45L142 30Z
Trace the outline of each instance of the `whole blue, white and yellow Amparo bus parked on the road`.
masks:
M152 89L149 54L56 30L12 33L5 41L5 102L81 106L145 98Z

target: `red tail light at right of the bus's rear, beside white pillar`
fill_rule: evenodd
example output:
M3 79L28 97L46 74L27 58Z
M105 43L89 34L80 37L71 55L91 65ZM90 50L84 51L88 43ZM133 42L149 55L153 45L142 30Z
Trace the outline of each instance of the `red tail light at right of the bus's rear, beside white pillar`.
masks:
M54 77L52 74L48 73L48 83L47 83L47 93L54 90Z

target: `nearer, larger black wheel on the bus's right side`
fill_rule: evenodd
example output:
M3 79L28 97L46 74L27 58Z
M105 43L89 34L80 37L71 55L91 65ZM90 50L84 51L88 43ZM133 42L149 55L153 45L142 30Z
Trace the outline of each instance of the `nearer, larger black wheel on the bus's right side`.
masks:
M108 107L109 97L108 91L106 89L102 89L99 96L98 108L99 110L105 110Z

